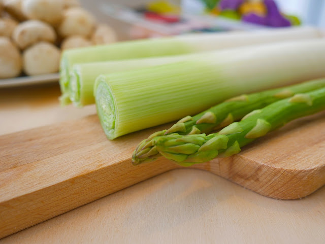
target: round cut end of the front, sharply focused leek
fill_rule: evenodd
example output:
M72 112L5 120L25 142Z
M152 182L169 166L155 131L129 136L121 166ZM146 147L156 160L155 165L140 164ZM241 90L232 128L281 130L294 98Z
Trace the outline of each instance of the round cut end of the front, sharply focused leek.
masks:
M106 82L101 82L105 81L105 78L99 76L97 79L99 81L95 92L97 113L106 136L113 140L117 137L115 134L116 111L114 98L109 85Z

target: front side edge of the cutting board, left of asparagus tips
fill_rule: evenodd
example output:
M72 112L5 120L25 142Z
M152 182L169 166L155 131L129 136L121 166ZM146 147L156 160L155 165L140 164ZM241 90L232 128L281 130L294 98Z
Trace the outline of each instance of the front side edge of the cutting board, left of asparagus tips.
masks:
M0 202L0 213L4 213L5 210L8 211L6 212L7 222L6 219L3 219L3 221L0 222L0 239L58 215L74 210L79 206L98 200L119 190L133 186L139 182L148 180L152 177L160 175L161 173L177 168L177 165L174 163L164 162L167 163L167 165L162 165L160 161L166 160L160 159L152 164L142 164L138 166L132 165L131 160L129 159L123 160L122 167L124 169L121 170L121 173L123 173L125 176L128 176L123 182L120 181L121 176L117 176L115 178L108 177L108 179L111 179L110 181L107 181L107 177L103 177L109 176L109 173L112 171L116 172L116 170L121 167L121 164L111 164L106 165L106 167L99 168L95 171L85 172L82 176L77 176L69 180L56 182L55 184L47 186L45 188L36 189L35 191L31 191L27 194L20 194L4 202ZM134 177L135 174L137 174L137 177ZM81 195L79 194L78 201L76 201L76 197L78 196L78 192L80 190L81 192L86 192L82 191L82 187L86 187L88 191L90 191L92 188L92 195L88 196L89 194L86 193ZM54 194L50 194L53 196L53 199L51 198L49 200L46 196L51 193L51 191L63 192L60 195L61 197L59 196L57 199ZM98 193L95 194L96 192ZM46 197L46 199L43 199L44 197ZM67 200L69 198L72 201ZM37 201L33 199L37 199ZM62 202L64 203L63 206L60 205ZM17 205L19 207L15 208L14 206ZM21 205L24 207L20 207ZM48 207L54 205L60 205L56 211L54 207ZM32 209L33 207L36 208L35 211ZM26 215L26 213L28 214ZM27 219L28 221L23 221ZM19 224L17 224L17 222Z

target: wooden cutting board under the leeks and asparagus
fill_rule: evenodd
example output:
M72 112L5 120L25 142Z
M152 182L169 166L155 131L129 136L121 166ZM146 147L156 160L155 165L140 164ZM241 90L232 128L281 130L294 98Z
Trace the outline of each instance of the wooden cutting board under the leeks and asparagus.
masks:
M133 166L137 144L163 125L108 141L98 118L0 136L0 237L178 166ZM230 158L193 166L259 194L305 197L325 184L325 113L287 124Z

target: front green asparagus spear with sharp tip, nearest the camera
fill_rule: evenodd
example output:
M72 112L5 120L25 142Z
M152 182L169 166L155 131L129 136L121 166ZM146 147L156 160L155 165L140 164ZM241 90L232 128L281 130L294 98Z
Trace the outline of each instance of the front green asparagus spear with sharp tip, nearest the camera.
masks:
M226 126L210 135L170 134L155 136L151 147L134 154L134 164L163 155L182 166L229 157L256 138L277 129L291 120L325 110L325 88L299 93L269 104L246 115L240 122ZM148 150L149 149L149 150ZM137 159L140 160L137 160ZM135 160L136 159L136 160Z

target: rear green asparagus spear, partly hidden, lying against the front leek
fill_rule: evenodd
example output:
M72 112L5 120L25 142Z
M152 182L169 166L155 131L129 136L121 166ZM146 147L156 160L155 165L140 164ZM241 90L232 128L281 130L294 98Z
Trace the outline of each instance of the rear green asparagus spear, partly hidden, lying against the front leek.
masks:
M168 130L153 133L138 145L133 155L133 162L134 164L140 164L143 161L152 161L146 157L138 158L137 155L139 153L142 155L142 148L148 152L148 150L153 147L151 146L153 143L152 140L156 136L171 133L177 133L180 135L210 133L213 130L223 128L234 121L238 121L251 111L264 108L272 102L293 96L297 93L313 91L324 86L325 79L318 79L294 86L241 95L226 100L196 116L186 116ZM154 151L150 152L150 154L153 153Z

